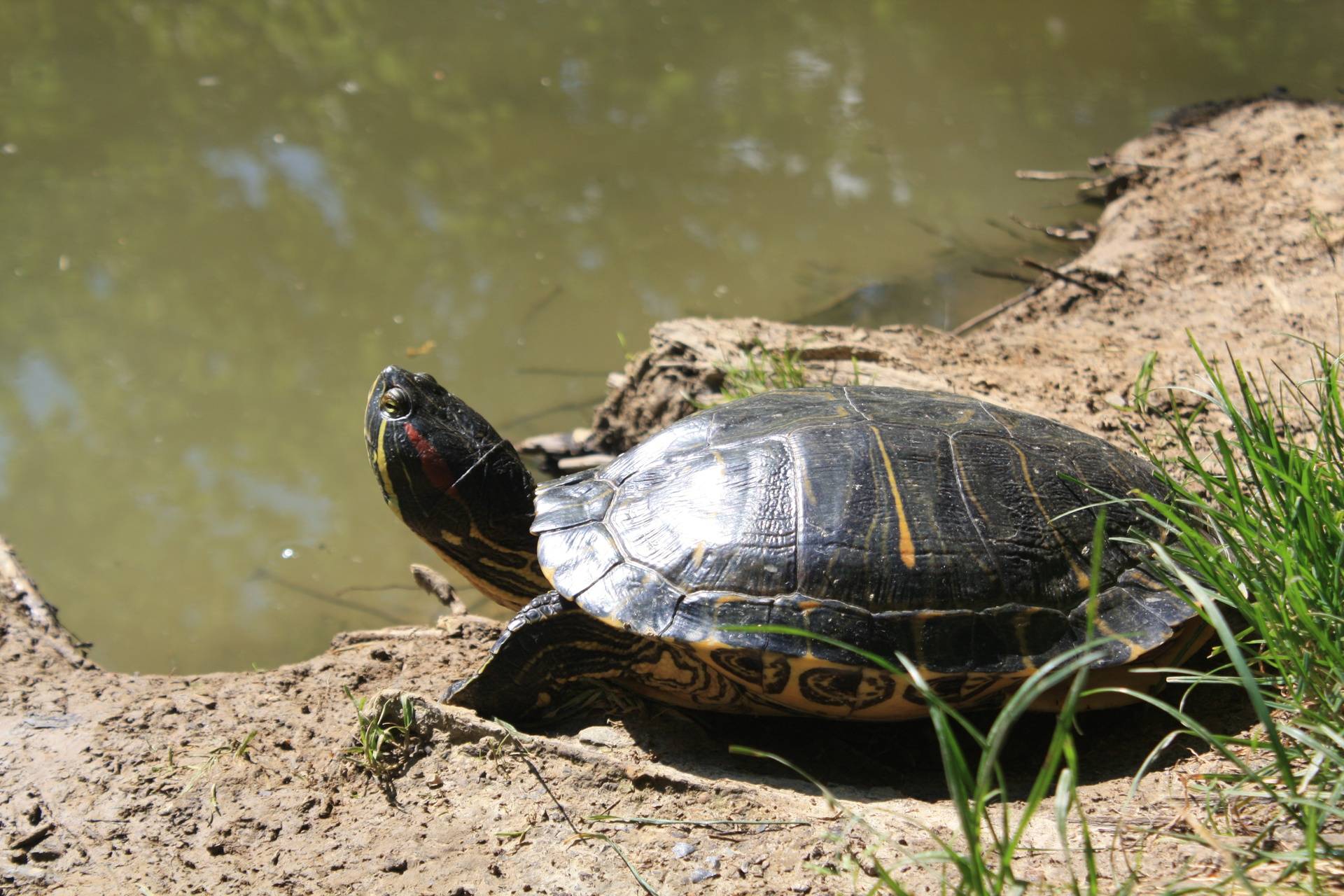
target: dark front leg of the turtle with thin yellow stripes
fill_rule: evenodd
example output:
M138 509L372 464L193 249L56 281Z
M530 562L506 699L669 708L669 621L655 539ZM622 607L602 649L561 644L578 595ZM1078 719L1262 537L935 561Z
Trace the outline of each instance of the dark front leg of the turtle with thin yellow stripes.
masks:
M444 703L509 720L562 716L573 711L575 690L620 677L645 642L547 591L509 619L489 658L450 686Z

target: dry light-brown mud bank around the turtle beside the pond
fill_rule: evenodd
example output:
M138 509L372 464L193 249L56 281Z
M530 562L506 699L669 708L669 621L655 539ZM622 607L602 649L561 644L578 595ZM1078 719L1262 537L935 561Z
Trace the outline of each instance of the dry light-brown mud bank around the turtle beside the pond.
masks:
M597 438L618 450L665 424L688 410L687 395L712 391L716 363L755 340L800 348L821 377L833 368L844 376L852 356L864 380L978 395L1117 441L1110 406L1128 398L1146 352L1160 352L1154 383L1193 383L1187 328L1215 352L1226 343L1290 373L1308 360L1294 337L1336 341L1339 105L1192 109L1114 159L1142 165L1116 163L1125 191L1095 246L1067 266L1089 289L1044 285L961 337L672 321L599 410ZM352 768L343 750L355 713L343 688L435 695L480 661L497 630L450 617L435 629L345 633L327 653L269 672L116 674L81 656L0 548L0 891L640 892L620 848L660 893L840 893L872 885L871 846L907 887L937 892L937 873L906 858L956 823L919 723L800 725L636 704L618 721L594 715L513 737L422 701L433 721L427 755L386 791ZM1196 705L1210 724L1249 724L1238 704L1211 700ZM1212 760L1177 746L1128 802L1128 775L1167 724L1137 708L1083 724L1082 799L1094 830L1116 832L1103 870L1128 873L1122 853L1140 845L1154 880L1181 865L1215 870L1216 854L1144 833L1177 822L1185 776ZM1017 733L1015 780L1034 771L1047 736L1046 724ZM829 810L782 766L730 756L730 743L788 755L886 840ZM691 823L723 819L738 823ZM1039 822L1031 845L1048 852L1019 873L1062 883L1052 819ZM843 873L813 869L828 865Z

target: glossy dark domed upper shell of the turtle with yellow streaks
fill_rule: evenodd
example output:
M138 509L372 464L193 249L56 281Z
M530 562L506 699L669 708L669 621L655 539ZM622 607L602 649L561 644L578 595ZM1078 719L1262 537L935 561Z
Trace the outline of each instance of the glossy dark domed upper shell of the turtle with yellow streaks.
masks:
M766 690L771 662L794 666L794 686L796 661L832 677L868 664L726 626L790 626L993 681L1082 642L1098 501L1136 489L1160 489L1148 463L1039 416L898 388L792 390L543 486L532 531L542 571L585 611ZM1109 505L1107 536L1142 527ZM1099 627L1118 637L1098 665L1130 662L1191 617L1138 564L1137 548L1105 543ZM780 701L810 709L823 685Z

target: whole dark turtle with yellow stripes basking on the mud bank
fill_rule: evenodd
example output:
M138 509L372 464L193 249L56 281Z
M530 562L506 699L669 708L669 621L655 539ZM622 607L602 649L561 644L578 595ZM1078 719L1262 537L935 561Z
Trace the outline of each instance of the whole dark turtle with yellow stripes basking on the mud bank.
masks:
M681 707L902 719L907 680L792 626L911 658L993 705L1086 634L1099 494L1159 489L1145 462L1059 423L957 395L829 387L689 416L599 470L536 488L512 446L431 376L388 367L364 419L398 516L516 611L449 700L554 712L606 680ZM1142 528L1110 506L1114 536ZM1200 641L1179 596L1107 540L1095 664ZM1179 635L1179 637L1177 637Z

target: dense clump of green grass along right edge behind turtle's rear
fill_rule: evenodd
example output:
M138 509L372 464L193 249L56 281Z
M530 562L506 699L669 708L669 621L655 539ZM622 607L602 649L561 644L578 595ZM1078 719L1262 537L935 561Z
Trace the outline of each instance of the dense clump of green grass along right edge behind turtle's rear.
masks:
M1207 390L1188 416L1165 415L1177 446L1163 463L1172 494L1146 500L1172 536L1157 548L1168 580L1222 642L1222 668L1184 681L1241 688L1259 719L1250 737L1200 733L1236 768L1208 782L1210 830L1250 837L1236 852L1242 875L1325 892L1344 885L1340 357L1316 347L1313 375L1294 383L1235 360L1224 375L1191 347ZM1218 823L1247 801L1255 811L1242 825Z

